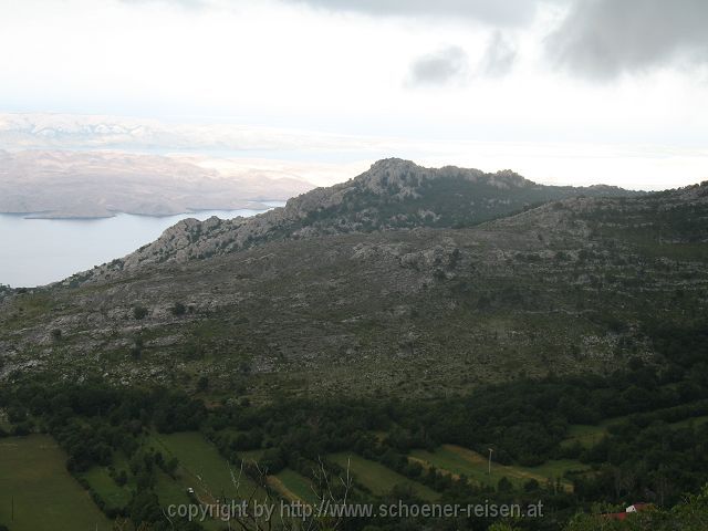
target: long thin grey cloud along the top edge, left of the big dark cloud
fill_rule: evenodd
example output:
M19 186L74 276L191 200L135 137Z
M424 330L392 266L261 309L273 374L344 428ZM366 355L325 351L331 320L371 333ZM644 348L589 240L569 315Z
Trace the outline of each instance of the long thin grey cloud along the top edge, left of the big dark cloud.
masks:
M476 19L499 25L519 25L535 13L535 0L284 0L330 11L374 15L433 15Z

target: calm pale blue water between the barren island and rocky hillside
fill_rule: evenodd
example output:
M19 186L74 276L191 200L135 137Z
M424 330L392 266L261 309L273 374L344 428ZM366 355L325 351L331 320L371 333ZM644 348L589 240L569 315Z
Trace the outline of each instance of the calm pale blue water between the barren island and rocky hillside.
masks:
M180 219L231 219L263 211L209 210L166 217L121 214L105 219L24 219L0 214L0 284L31 288L63 280L133 252Z

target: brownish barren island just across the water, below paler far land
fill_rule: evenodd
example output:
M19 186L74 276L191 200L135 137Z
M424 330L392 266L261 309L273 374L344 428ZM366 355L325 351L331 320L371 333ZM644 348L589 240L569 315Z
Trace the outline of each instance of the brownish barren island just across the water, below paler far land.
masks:
M262 201L287 200L312 188L296 176L217 170L196 157L0 150L0 214L31 218L263 209Z

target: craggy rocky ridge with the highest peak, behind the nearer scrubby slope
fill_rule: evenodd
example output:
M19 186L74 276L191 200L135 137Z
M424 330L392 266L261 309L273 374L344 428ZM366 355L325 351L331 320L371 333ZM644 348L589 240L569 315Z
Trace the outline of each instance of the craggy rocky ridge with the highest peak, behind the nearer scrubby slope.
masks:
M267 241L416 227L469 227L531 205L577 195L638 194L608 186L544 186L511 170L486 174L454 166L424 168L391 158L346 183L316 188L260 216L183 220L155 242L100 268L91 277L105 279L114 271L150 263L228 254Z

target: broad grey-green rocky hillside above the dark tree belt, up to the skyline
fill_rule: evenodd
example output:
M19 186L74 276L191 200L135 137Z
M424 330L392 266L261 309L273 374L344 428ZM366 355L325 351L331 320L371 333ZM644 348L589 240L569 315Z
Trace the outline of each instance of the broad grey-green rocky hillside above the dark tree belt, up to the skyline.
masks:
M450 212L419 184L388 188L394 168L414 166L379 163L251 222L173 229L122 267L6 290L0 377L42 371L206 385L225 398L440 396L524 376L606 373L637 357L660 364L647 326L706 314L708 184L553 199L480 223L444 218ZM459 184L445 171L475 176L423 171L436 186ZM410 173L394 185L408 181L403 175ZM507 173L479 179L500 198L535 186ZM361 201L353 210L351 190ZM418 200L433 218L415 217ZM341 228L364 210L371 228ZM222 243L243 230L250 243ZM191 241L177 244L184 233Z

